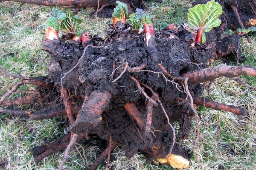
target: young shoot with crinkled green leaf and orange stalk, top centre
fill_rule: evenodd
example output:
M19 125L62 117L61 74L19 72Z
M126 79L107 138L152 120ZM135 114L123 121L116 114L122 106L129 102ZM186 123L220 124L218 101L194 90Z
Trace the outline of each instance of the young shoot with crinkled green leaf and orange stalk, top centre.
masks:
M117 6L114 8L114 12L112 14L113 17L113 26L115 27L116 22L121 21L125 23L125 20L128 16L128 6L126 3L121 3L120 1L116 1Z

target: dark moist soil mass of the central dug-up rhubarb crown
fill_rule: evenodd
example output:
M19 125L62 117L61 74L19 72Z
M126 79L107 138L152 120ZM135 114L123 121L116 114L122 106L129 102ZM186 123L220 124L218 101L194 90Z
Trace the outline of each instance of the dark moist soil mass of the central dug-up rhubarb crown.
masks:
M149 48L145 45L143 37L128 33L112 39L100 48L96 44L99 43L98 40L92 41L91 44L96 46L89 45L86 49L74 41L55 41L55 45L52 43L54 42L43 42L42 47L53 51L49 65L51 82L55 82L60 88L62 86L68 89L70 96L79 99L77 102L80 105L93 91L108 91L112 95L98 125L90 125L91 127L87 128L82 124L71 125L72 132L97 134L105 140L112 137L118 144L125 145L128 157L133 156L138 150L147 153L150 160L167 156L174 136L161 106L154 106L150 135L145 133L145 127L140 127L124 108L126 103L133 102L140 111L143 121L147 119L148 99L139 91L137 84L130 78L132 76L159 95L170 123L180 124L180 138L184 139L189 135L194 113L186 101L187 95L177 81L161 75L163 70L157 65L151 51L147 50ZM207 61L212 58L207 50L198 50L186 42L169 39L162 34L156 35L154 43L158 61L174 77L184 72L205 68ZM143 69L132 71L143 64ZM128 69L122 74L125 65ZM117 80L113 82L115 79ZM190 85L189 90L193 96L199 96L201 86ZM148 96L153 96L149 89L144 87L144 91ZM176 145L172 153L189 159L188 151Z

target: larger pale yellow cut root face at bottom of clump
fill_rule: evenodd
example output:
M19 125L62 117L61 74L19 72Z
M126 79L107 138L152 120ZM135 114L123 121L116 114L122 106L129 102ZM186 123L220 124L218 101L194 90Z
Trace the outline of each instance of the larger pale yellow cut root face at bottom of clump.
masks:
M184 169L184 168L189 168L189 160L183 158L182 156L179 155L173 155L170 154L167 157L167 161L169 162L172 167L176 169Z

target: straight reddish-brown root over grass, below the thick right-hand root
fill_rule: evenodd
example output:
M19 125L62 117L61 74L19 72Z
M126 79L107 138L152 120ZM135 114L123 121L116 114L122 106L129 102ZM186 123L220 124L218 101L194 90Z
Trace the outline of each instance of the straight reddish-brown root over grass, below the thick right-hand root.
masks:
M223 103L210 101L207 98L194 97L194 104L212 108L217 111L229 111L237 115L246 115L247 110L245 108L239 108L234 105L225 105Z

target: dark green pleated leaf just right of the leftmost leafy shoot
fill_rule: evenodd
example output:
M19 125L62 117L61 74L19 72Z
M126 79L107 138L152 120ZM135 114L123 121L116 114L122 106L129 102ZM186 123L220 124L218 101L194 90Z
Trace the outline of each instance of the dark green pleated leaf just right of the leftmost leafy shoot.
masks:
M81 22L80 17L75 16L72 11L68 10L66 18L61 21L61 29L76 33L76 26Z

